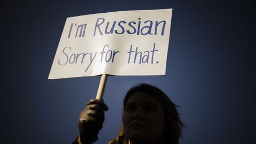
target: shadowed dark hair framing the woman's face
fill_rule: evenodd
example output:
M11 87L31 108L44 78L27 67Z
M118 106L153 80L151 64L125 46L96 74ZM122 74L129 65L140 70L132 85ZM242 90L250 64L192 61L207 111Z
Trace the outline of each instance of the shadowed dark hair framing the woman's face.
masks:
M137 92L150 93L152 95L155 95L159 99L163 106L165 122L167 127L167 130L164 132L164 143L178 144L179 138L182 137L182 127L185 126L185 124L183 124L180 120L180 116L177 110L178 106L175 105L162 90L158 89L153 85L142 83L137 86L131 87L131 89L127 91L123 102L123 111L131 95ZM122 124L117 137L114 140L110 141L109 144L128 143L129 140L124 135L124 127Z

